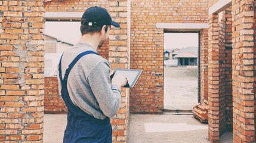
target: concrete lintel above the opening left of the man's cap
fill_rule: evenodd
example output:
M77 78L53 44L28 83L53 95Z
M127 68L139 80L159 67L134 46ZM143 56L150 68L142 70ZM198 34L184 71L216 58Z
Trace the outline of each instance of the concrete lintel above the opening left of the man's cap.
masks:
M82 12L46 12L45 18L48 20L81 20Z

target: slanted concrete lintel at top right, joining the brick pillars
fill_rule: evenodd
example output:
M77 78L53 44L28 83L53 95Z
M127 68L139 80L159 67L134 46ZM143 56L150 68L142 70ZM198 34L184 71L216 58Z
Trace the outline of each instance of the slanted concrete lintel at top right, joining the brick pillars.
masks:
M219 0L209 8L209 15L218 14L232 6L232 0Z

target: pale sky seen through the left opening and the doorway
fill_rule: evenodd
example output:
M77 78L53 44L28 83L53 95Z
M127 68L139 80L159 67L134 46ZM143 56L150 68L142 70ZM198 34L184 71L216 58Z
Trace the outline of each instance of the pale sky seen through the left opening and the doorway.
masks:
M58 40L75 44L81 37L80 22L50 22L45 23L45 34ZM186 48L198 46L198 33L165 33L164 48Z

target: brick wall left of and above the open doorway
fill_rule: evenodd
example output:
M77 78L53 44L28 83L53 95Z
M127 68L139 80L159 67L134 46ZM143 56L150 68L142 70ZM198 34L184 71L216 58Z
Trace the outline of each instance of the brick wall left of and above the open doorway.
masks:
M189 5L189 6L188 6ZM142 69L130 94L132 113L162 113L164 29L156 23L207 23L208 2L131 1L131 69Z

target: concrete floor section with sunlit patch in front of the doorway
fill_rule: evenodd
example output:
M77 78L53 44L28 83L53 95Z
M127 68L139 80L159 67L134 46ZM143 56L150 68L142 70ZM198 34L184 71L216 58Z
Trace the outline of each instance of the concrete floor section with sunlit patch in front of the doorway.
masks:
M128 142L206 143L208 125L192 114L131 114Z

